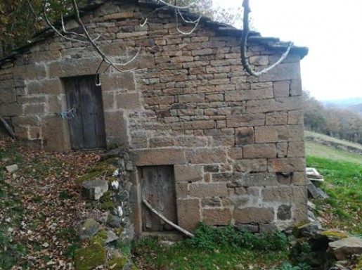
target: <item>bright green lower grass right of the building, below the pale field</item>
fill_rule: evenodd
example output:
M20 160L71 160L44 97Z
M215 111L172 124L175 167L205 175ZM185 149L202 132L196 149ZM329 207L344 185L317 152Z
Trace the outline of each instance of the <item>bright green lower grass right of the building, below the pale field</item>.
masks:
M328 221L325 226L362 236L362 162L308 155L306 165L315 167L324 176L322 188L330 195L325 200L314 200Z

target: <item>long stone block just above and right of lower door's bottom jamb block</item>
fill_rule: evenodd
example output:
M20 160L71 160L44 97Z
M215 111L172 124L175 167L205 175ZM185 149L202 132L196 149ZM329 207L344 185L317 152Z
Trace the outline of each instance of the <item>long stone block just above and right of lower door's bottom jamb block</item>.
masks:
M193 183L188 185L190 197L209 198L209 197L226 197L228 188L224 183Z

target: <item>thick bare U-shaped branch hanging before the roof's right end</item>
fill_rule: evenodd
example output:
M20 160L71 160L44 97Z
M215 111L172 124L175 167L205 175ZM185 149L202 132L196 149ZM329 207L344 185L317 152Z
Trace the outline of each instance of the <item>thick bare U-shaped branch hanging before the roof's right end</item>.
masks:
M269 70L272 70L273 68L276 68L277 65L279 65L285 58L287 58L290 49L292 49L293 43L290 42L289 46L287 47L287 50L285 53L280 56L279 60L276 61L276 63L273 63L273 65L269 66L268 68L264 68L264 70L261 70L259 72L256 72L252 70L252 66L247 61L247 38L249 36L249 13L251 12L250 6L249 6L249 0L243 1L243 8L244 8L244 17L243 17L243 34L241 36L241 44L240 44L240 51L241 51L241 63L243 64L243 67L245 70L252 76L259 77L266 72L269 72Z

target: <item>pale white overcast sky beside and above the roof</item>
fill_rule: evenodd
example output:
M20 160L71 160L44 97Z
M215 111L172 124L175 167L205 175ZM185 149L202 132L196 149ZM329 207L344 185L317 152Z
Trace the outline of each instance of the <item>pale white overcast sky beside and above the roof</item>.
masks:
M243 0L214 0L223 7ZM319 101L362 98L362 0L250 0L263 37L306 46L303 89Z

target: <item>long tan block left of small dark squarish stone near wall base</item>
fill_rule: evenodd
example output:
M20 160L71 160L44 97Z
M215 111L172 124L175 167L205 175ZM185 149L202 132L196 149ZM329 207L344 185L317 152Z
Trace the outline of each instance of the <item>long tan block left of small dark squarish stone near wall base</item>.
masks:
M235 209L233 214L235 223L270 223L274 220L273 208L247 207Z

